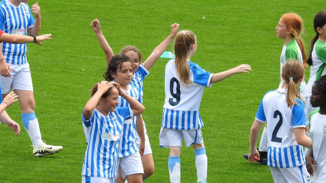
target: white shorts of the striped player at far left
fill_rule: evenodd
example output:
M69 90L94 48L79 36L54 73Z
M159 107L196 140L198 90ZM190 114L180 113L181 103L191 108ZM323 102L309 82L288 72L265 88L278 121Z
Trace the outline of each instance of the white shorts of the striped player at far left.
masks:
M10 77L0 76L0 83L2 87L2 94L8 93L9 90L27 90L33 91L31 71L29 63L24 64L10 64L12 72Z

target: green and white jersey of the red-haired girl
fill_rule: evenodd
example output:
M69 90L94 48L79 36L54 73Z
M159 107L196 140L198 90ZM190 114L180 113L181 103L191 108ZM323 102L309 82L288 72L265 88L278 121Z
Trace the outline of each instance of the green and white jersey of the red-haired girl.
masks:
M304 64L301 49L295 39L292 39L288 44L283 46L282 53L281 53L281 68L280 68L281 74L282 74L283 65L291 59L299 60L302 64ZM283 85L283 80L281 77L281 83L279 85L279 88L281 88L282 85ZM303 97L305 96L305 88L306 88L306 83L303 80L299 87L300 95Z

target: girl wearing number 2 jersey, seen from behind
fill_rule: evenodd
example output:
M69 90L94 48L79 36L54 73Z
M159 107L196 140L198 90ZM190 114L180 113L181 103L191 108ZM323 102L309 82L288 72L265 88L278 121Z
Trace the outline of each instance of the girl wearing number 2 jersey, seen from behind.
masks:
M304 102L298 90L304 79L304 65L290 60L284 64L281 76L282 88L267 92L261 100L250 131L248 160L260 159L256 143L260 128L267 121L267 165L274 182L309 182L302 146L310 147L311 139L304 134Z

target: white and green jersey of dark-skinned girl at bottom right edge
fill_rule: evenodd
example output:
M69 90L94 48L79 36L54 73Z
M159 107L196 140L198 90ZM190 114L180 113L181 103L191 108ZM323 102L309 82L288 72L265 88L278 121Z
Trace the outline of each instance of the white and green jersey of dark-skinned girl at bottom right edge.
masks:
M310 138L313 155L318 166L315 166L315 175L312 182L326 182L326 115L319 114L319 109L310 113Z

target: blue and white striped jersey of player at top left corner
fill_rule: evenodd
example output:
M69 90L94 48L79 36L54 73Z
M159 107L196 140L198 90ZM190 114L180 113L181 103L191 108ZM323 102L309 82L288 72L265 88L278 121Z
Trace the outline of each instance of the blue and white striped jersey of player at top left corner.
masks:
M0 6L0 30L7 34L27 35L27 30L34 25L34 18L28 4L21 3L16 7L8 0L2 0ZM1 42L1 45L7 63L27 63L26 43L11 44Z

